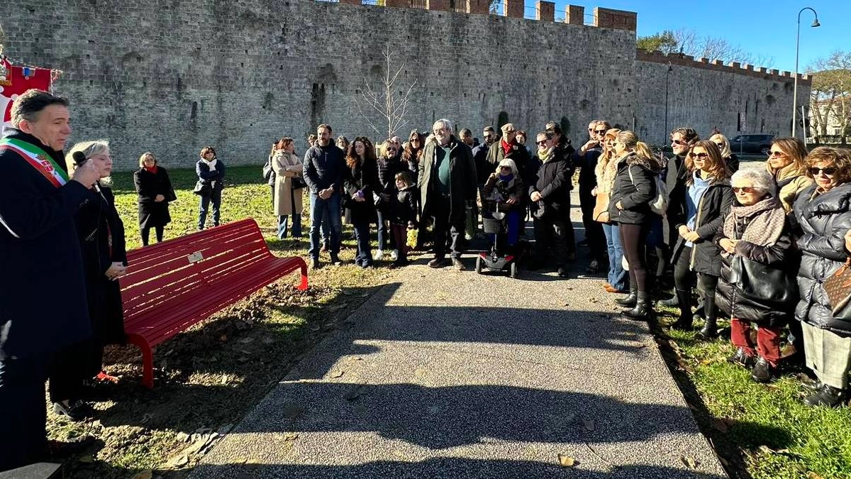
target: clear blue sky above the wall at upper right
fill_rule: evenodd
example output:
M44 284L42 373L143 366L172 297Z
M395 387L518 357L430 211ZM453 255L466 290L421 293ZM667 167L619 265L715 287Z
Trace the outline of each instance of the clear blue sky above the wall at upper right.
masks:
M795 70L795 32L797 14L803 7L812 7L819 14L821 26L812 28L813 13L801 14L801 72L814 60L830 55L834 50L851 50L848 9L851 0L556 0L556 10L565 5L585 7L593 14L594 7L630 10L638 13L638 35L647 36L663 30L694 29L703 35L725 38L755 57L774 59L771 67ZM534 9L534 1L526 0ZM527 9L527 12L529 9ZM559 14L556 14L559 16ZM591 19L586 17L587 21Z

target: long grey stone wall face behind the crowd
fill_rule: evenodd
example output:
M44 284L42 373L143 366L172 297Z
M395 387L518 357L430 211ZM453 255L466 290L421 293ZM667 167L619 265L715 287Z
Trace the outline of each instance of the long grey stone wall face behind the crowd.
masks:
M555 120L579 142L607 118L659 144L668 75L669 130L734 136L739 112L747 132L789 130L792 78L669 74L637 60L635 32L620 28L312 0L4 0L0 19L7 55L63 72L54 92L71 101L71 141L109 139L117 170L146 151L191 167L205 145L260 165L282 136L304 153L320 123L380 141L365 118L386 121L361 92L380 86L388 46L405 64L397 95L416 80L403 137L438 118L475 136L500 119L529 132ZM805 100L808 82L798 86Z

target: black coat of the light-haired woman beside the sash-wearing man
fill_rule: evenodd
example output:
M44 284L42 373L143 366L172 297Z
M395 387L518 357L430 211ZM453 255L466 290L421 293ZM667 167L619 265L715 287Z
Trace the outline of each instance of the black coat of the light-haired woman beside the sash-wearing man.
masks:
M121 286L106 278L112 263L127 266L124 223L115 209L111 188L100 187L100 193L90 190L89 202L77 211L74 222L83 250L94 344L126 343ZM97 367L100 371L100 365Z

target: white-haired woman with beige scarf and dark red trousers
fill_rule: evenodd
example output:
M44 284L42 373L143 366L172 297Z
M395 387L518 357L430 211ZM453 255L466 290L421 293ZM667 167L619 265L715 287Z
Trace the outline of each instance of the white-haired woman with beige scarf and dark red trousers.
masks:
M771 174L740 170L731 184L736 203L715 237L722 250L716 304L730 318L736 352L728 361L766 383L780 361L780 332L795 315L797 255Z

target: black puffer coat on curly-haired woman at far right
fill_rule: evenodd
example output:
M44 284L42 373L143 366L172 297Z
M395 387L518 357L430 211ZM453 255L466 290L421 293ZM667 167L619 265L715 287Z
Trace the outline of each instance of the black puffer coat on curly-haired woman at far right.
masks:
M820 194L815 185L803 190L792 214L797 247L802 251L797 279L801 300L795 319L851 337L851 317L834 316L825 292L825 280L848 258L843 236L851 229L851 183Z

